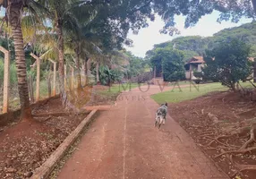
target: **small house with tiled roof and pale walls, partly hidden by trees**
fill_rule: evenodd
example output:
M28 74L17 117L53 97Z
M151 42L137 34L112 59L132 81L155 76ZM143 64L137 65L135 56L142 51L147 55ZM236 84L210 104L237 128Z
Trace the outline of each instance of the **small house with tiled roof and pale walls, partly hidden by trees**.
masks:
M186 80L194 80L196 79L193 75L193 72L201 72L202 67L205 62L203 60L203 56L193 56L185 65L185 76Z

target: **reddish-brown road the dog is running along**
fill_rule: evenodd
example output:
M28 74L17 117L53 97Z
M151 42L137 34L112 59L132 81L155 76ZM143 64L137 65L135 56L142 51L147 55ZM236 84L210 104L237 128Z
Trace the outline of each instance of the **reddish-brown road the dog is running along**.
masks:
M58 178L227 178L169 115L160 131L154 128L158 104L149 95L159 87L141 90L124 92L100 113Z

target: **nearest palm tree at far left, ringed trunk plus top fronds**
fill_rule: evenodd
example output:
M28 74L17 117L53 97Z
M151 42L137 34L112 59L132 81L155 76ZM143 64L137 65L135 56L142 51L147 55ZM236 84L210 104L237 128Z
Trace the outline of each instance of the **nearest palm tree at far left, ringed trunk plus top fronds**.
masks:
M38 4L38 2L32 0L3 0L0 3L0 7L3 6L6 9L5 20L9 21L12 29L15 62L18 76L18 89L21 101L21 119L29 120L32 118L32 116L30 110L30 98L27 83L23 35L21 30L21 16L23 15L23 8L25 6L27 6L28 9L33 12L38 12L38 7L40 9L44 8L40 4Z

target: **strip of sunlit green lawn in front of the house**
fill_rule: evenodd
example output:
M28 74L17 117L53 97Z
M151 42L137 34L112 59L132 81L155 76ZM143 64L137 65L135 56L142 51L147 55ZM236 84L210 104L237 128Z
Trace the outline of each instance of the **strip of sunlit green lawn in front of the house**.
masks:
M191 88L185 87L181 90L176 87L174 90L168 90L166 92L152 95L151 98L158 102L158 104L164 102L178 103L184 100L191 100L193 98L201 97L209 92L223 90L227 90L227 88L222 86L220 83L208 83L199 85L198 90L196 90L193 86L191 86Z

